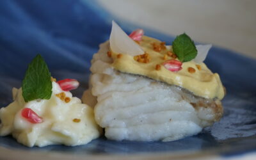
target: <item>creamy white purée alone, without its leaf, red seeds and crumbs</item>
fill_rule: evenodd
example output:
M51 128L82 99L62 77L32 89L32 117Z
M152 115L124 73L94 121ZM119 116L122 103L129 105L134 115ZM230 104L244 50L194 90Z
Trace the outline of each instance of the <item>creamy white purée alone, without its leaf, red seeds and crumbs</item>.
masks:
M61 90L58 83L52 82L52 96L49 100L25 102L22 88L13 88L12 92L14 101L0 109L0 136L12 134L19 143L28 147L84 145L100 136L101 129L94 120L93 109L82 104L77 97L72 97L72 93ZM70 98L70 102L56 96L61 92ZM31 108L43 118L43 122L29 122L21 115L24 108Z

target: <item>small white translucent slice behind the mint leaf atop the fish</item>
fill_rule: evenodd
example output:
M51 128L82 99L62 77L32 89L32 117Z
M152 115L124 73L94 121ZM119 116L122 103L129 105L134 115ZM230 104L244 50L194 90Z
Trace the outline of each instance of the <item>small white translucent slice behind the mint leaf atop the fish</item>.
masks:
M212 45L211 44L207 44L207 45L196 45L196 49L197 49L197 55L196 55L196 58L194 59L194 61L196 63L202 63L209 50L211 49Z

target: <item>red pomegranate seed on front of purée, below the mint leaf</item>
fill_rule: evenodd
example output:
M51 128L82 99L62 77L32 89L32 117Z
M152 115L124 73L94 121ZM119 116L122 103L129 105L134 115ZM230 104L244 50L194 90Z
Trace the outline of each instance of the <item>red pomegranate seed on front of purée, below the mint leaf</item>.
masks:
M24 108L21 111L21 115L26 118L32 124L38 124L43 122L43 118L38 116L35 111L30 108Z

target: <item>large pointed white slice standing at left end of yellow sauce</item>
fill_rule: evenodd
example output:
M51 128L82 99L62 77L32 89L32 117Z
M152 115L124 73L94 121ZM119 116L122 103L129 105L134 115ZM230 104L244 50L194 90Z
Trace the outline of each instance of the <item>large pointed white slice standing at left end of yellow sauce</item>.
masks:
M143 54L144 51L140 45L136 44L126 33L112 21L112 29L109 38L111 51L122 54L129 54L130 56L137 56Z

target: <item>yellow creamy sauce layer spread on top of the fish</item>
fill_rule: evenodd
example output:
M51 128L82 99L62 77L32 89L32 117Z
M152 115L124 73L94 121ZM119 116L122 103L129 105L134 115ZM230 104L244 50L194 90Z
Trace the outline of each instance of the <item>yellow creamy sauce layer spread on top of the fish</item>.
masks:
M172 72L163 66L164 61L173 59L171 56L168 56L168 58L164 60L164 54L166 54L167 51L172 52L172 47L169 49L161 49L160 52L156 52L152 45L154 42L157 44L161 43L161 41L154 38L143 36L139 44L150 56L150 61L148 63L140 63L134 60L133 56L128 54L111 52L113 68L120 72L138 74L150 77L157 81L180 86L189 92L206 99L223 99L225 91L218 74L213 74L204 63L197 64L193 60L182 63L182 70ZM176 58L175 60L178 59ZM156 70L157 64L161 65L160 70ZM196 65L200 65L201 69L199 70ZM190 73L188 67L193 67L195 72Z

